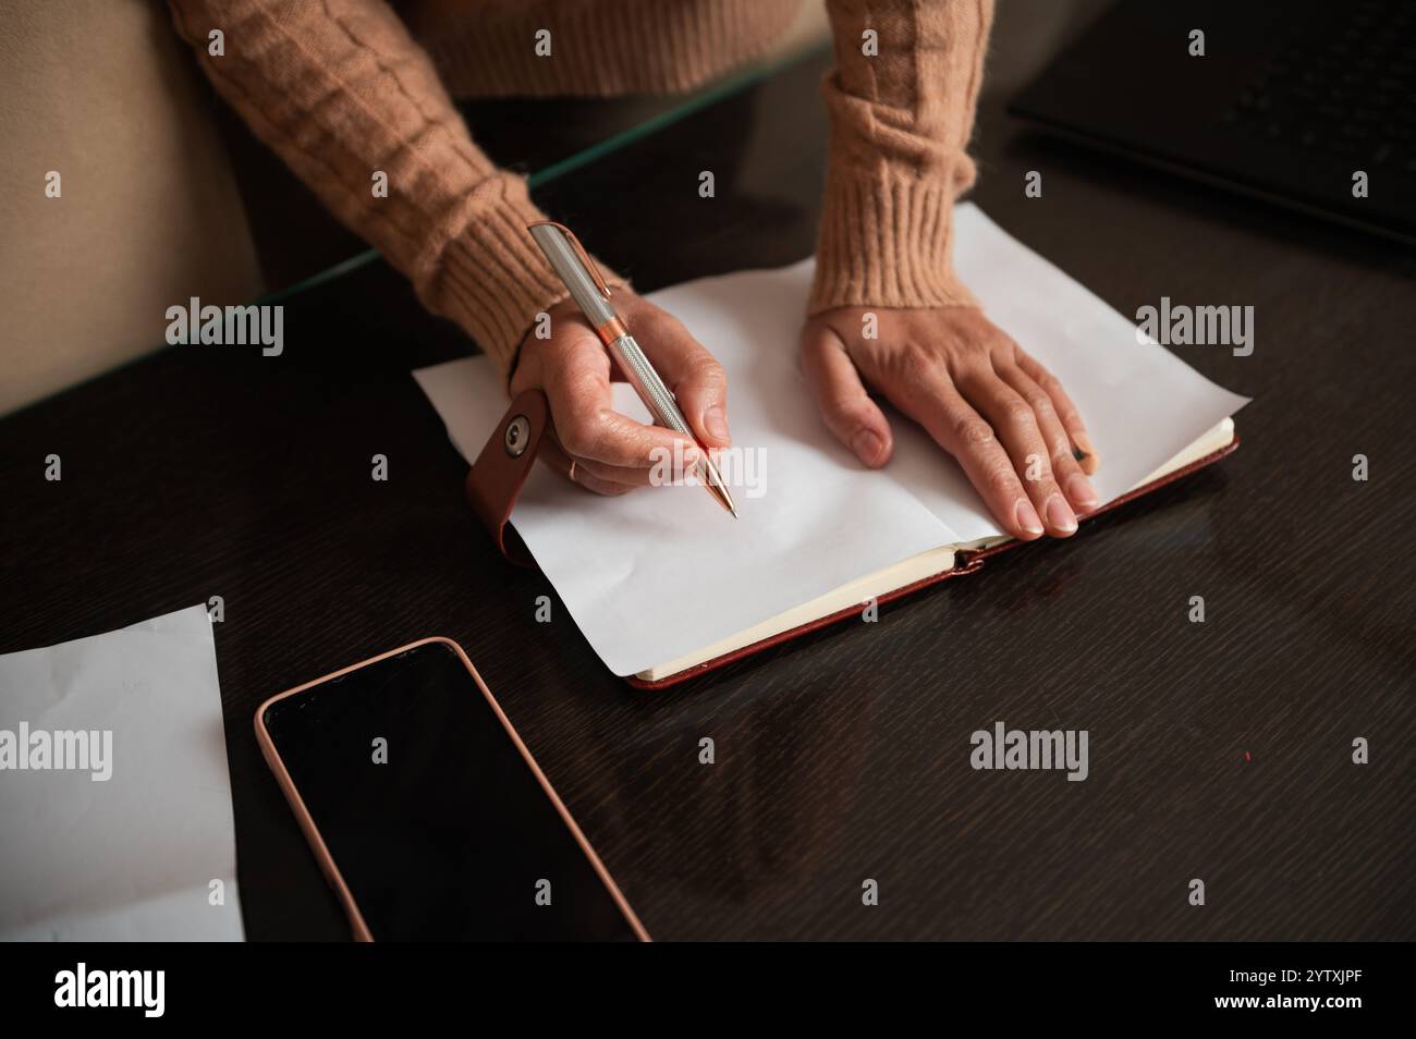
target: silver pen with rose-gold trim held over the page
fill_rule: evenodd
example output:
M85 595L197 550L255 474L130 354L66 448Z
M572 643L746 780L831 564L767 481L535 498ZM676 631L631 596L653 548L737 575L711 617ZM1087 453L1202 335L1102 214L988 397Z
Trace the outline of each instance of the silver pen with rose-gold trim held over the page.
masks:
M615 307L609 302L610 289L581 246L579 239L568 226L555 221L531 224L530 231L531 238L541 246L541 252L545 253L547 260L571 292L571 299L585 314L585 320L595 328L595 334L600 337L600 343L610 351L610 355L619 361L620 371L639 394L639 399L649 408L654 422L675 433L683 433L698 444L698 466L694 474L718 500L718 504L736 517L738 508L732 503L732 495L728 494L728 487L724 484L718 467L712 464L708 450L698 443L698 437L684 420L684 413L678 411L673 391L664 385L658 372L654 371L654 365L649 362L644 351L629 334L624 321L615 313Z

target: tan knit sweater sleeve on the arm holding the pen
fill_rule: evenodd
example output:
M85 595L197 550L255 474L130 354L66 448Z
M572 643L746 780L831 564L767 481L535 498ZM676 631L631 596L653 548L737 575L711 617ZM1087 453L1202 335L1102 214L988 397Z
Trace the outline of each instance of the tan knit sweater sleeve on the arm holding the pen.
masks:
M169 6L252 132L507 372L535 314L566 292L525 231L542 218L525 181L473 144L392 8L384 0ZM217 30L222 54L212 54ZM378 173L387 197L374 190Z

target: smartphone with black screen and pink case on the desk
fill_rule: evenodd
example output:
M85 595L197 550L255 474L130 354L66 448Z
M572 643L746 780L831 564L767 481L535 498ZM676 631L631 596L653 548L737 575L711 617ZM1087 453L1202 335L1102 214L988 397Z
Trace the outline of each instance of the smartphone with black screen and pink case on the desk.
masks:
M256 739L361 941L647 941L462 647L272 696Z

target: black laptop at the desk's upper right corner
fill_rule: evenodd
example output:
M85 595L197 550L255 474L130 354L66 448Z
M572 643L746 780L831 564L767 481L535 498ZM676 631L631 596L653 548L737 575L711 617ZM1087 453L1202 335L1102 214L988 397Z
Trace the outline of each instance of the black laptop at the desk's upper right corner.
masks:
M1008 110L1416 245L1416 0L1121 0Z

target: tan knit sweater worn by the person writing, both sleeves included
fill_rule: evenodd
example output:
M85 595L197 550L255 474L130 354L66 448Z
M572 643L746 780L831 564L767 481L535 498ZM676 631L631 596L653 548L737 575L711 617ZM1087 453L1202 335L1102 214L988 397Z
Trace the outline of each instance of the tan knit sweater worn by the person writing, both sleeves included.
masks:
M525 231L541 218L525 181L477 149L449 92L690 89L769 50L800 3L169 0L255 133L503 371L565 289ZM993 0L827 8L830 168L809 311L973 304L953 276L950 214L974 178L964 147ZM549 55L538 54L539 30ZM865 52L868 30L878 54ZM387 197L375 197L375 171Z

